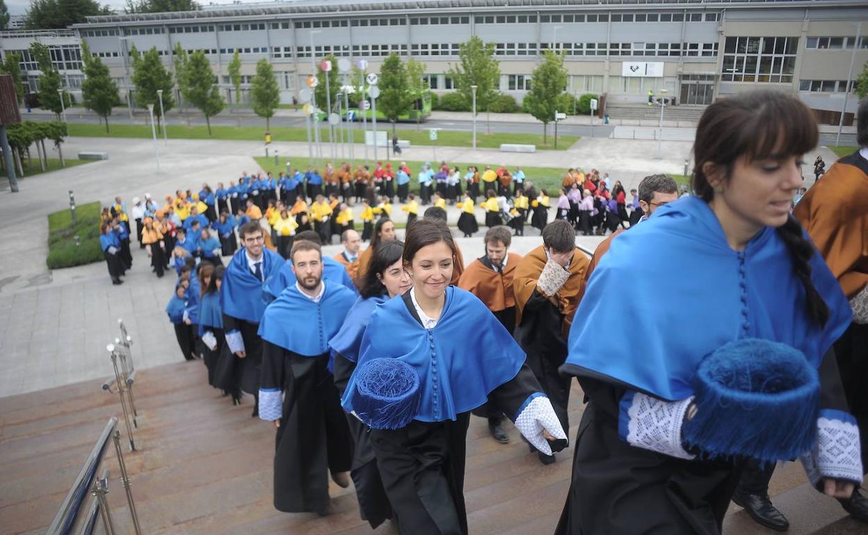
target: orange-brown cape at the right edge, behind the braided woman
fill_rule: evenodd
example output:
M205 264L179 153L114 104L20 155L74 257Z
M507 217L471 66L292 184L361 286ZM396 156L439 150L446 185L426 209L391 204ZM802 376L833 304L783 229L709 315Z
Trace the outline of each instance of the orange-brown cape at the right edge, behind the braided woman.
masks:
M868 160L838 160L799 200L801 221L848 298L868 285Z

